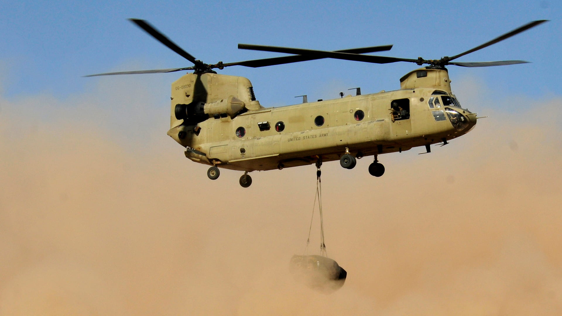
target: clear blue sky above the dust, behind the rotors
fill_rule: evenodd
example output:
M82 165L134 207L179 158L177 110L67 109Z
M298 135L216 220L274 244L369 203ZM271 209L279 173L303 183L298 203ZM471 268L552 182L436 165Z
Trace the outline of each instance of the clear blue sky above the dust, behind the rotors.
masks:
M5 1L0 4L0 87L5 98L47 93L65 100L115 78L82 75L119 70L191 66L126 19L146 19L180 47L209 64L283 56L237 49L238 43L311 49L394 44L383 56L426 59L452 56L532 20L551 21L457 61L528 60L533 64L465 69L464 76L493 87L498 96L559 96L562 5L554 1L247 1L75 2ZM317 60L220 73L249 78L264 106L335 98L341 90L393 90L415 64L376 65ZM171 82L182 73L135 75L167 109ZM165 114L164 114L165 115Z

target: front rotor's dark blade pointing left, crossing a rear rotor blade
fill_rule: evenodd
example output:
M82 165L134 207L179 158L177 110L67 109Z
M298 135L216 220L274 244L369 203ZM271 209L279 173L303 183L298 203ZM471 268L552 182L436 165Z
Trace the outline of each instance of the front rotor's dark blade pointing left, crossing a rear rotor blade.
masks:
M389 62L397 62L397 61L408 61L408 62L416 62L416 63L418 62L417 59L359 55L355 53L316 51L314 49L262 46L262 45L251 45L251 44L238 44L238 48L252 49L255 51L297 54L297 55L310 56L314 58L336 58L336 59L343 59L343 60L364 61L364 62L372 62L375 64L388 64Z

